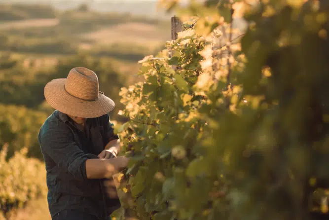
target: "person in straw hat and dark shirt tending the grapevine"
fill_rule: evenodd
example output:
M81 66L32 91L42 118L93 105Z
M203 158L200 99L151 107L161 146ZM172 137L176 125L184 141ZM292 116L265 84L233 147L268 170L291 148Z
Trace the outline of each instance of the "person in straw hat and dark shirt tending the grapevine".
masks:
M44 96L55 109L38 133L52 220L110 220L120 201L107 181L129 161L117 156L120 141L108 114L114 102L99 91L96 73L83 67L48 82Z

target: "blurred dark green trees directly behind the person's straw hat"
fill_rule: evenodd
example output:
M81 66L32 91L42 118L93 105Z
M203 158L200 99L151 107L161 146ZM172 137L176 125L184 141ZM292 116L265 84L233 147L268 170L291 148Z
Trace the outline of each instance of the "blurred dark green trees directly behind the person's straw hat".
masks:
M117 73L107 59L97 59L87 54L60 59L49 70L33 70L22 67L19 60L2 55L0 62L0 146L10 144L9 155L22 147L29 148L29 156L42 160L37 133L53 109L44 105L43 89L54 78L64 78L73 67L83 65L95 71L100 90L116 103L110 112L111 119L122 120L117 112L122 109L118 93L125 84L125 76ZM111 85L108 85L108 82ZM15 106L17 105L17 106ZM28 109L29 108L29 109Z

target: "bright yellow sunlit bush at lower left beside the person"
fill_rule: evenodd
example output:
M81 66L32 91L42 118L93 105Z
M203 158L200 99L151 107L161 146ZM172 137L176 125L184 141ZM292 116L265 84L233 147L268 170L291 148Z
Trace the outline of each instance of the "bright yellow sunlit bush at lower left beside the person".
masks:
M0 151L0 216L21 208L30 200L46 196L44 163L27 158L27 148L16 151L9 160L7 148Z

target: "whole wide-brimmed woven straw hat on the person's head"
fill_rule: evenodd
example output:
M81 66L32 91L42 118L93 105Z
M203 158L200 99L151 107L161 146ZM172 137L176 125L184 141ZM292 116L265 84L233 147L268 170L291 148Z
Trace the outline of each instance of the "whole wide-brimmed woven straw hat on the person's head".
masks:
M44 97L54 109L84 118L102 116L115 107L113 100L99 91L96 73L83 67L73 68L67 78L48 82Z

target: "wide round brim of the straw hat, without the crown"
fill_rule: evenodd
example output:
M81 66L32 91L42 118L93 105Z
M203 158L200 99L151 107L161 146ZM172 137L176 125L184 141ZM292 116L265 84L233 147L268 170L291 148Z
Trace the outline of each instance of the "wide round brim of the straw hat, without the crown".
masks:
M95 118L109 113L114 109L113 100L99 93L95 101L84 101L66 92L66 78L53 79L44 87L44 97L54 109L76 117Z

